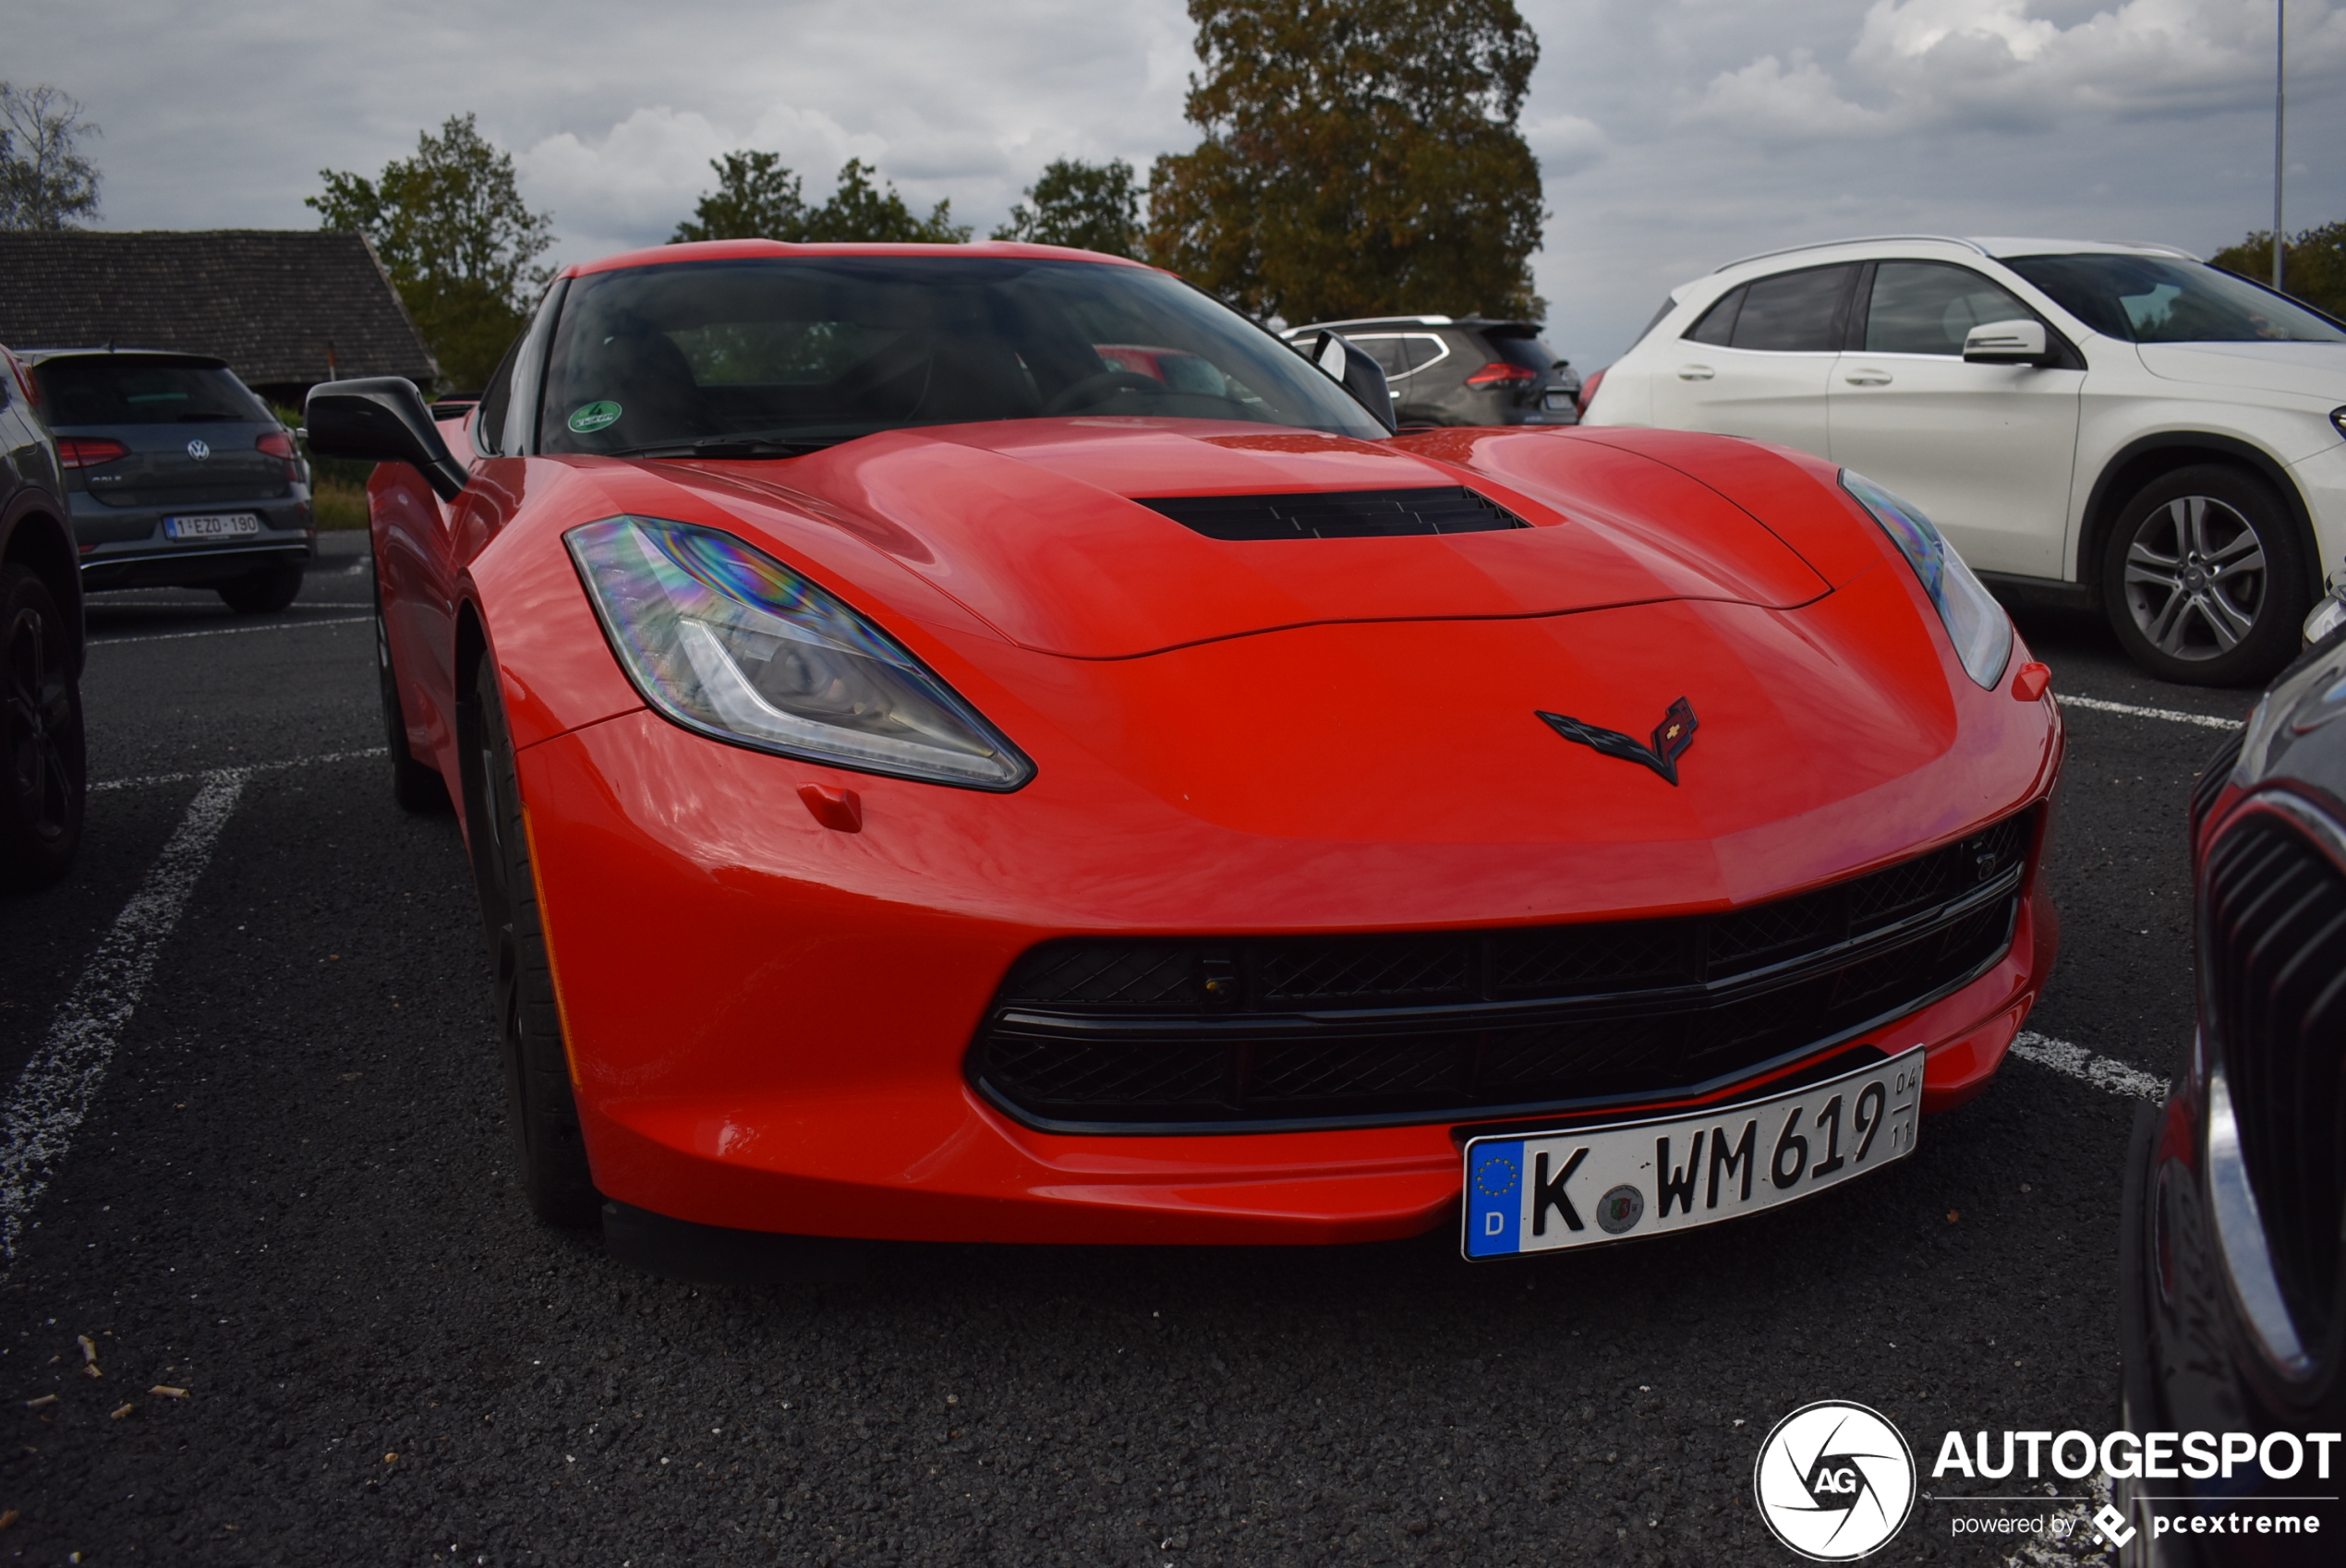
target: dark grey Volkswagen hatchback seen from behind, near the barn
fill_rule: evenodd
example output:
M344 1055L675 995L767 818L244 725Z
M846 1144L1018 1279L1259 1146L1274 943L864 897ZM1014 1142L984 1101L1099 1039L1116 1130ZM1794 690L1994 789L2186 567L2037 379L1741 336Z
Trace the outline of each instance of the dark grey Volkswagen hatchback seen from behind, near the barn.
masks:
M35 349L82 588L211 588L284 609L317 551L293 434L225 361L152 349Z

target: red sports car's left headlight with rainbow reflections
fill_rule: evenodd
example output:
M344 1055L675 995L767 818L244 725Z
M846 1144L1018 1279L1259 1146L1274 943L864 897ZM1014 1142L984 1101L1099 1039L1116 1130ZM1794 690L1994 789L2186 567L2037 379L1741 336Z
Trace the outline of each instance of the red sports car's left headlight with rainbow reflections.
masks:
M1035 776L877 626L713 527L605 518L565 534L619 663L685 729L976 790Z

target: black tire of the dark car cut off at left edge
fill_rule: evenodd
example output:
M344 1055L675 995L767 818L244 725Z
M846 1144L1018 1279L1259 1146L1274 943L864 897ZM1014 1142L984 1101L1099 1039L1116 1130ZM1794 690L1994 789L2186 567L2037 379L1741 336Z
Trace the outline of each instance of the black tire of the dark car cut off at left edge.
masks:
M80 628L49 584L0 567L0 886L40 888L82 846L89 790L82 755Z

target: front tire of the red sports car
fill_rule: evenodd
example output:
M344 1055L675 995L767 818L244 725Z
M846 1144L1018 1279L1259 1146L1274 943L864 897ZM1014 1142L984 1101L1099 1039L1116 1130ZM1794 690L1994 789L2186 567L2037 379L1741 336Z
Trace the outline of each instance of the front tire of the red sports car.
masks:
M495 977L497 1029L504 1038L507 1116L521 1160L521 1191L530 1209L556 1226L596 1226L603 1195L586 1167L586 1139L570 1092L554 968L537 919L537 879L521 827L521 788L514 743L504 729L497 666L481 659L472 701L465 703L465 825L472 877L481 893L481 928Z

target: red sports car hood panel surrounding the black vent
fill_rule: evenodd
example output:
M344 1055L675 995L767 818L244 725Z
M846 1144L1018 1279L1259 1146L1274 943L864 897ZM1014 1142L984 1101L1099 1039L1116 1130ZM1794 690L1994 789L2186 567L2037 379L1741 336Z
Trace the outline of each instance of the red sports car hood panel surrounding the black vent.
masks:
M786 469L662 464L659 473L784 537L809 523L845 530L1011 642L1074 659L1281 626L1666 600L1790 607L1828 593L1717 490L1600 443L1572 443L1555 473L1501 483L1403 445L1307 431L1028 420L870 436ZM1469 485L1530 527L1227 541L1135 499L1443 485Z

